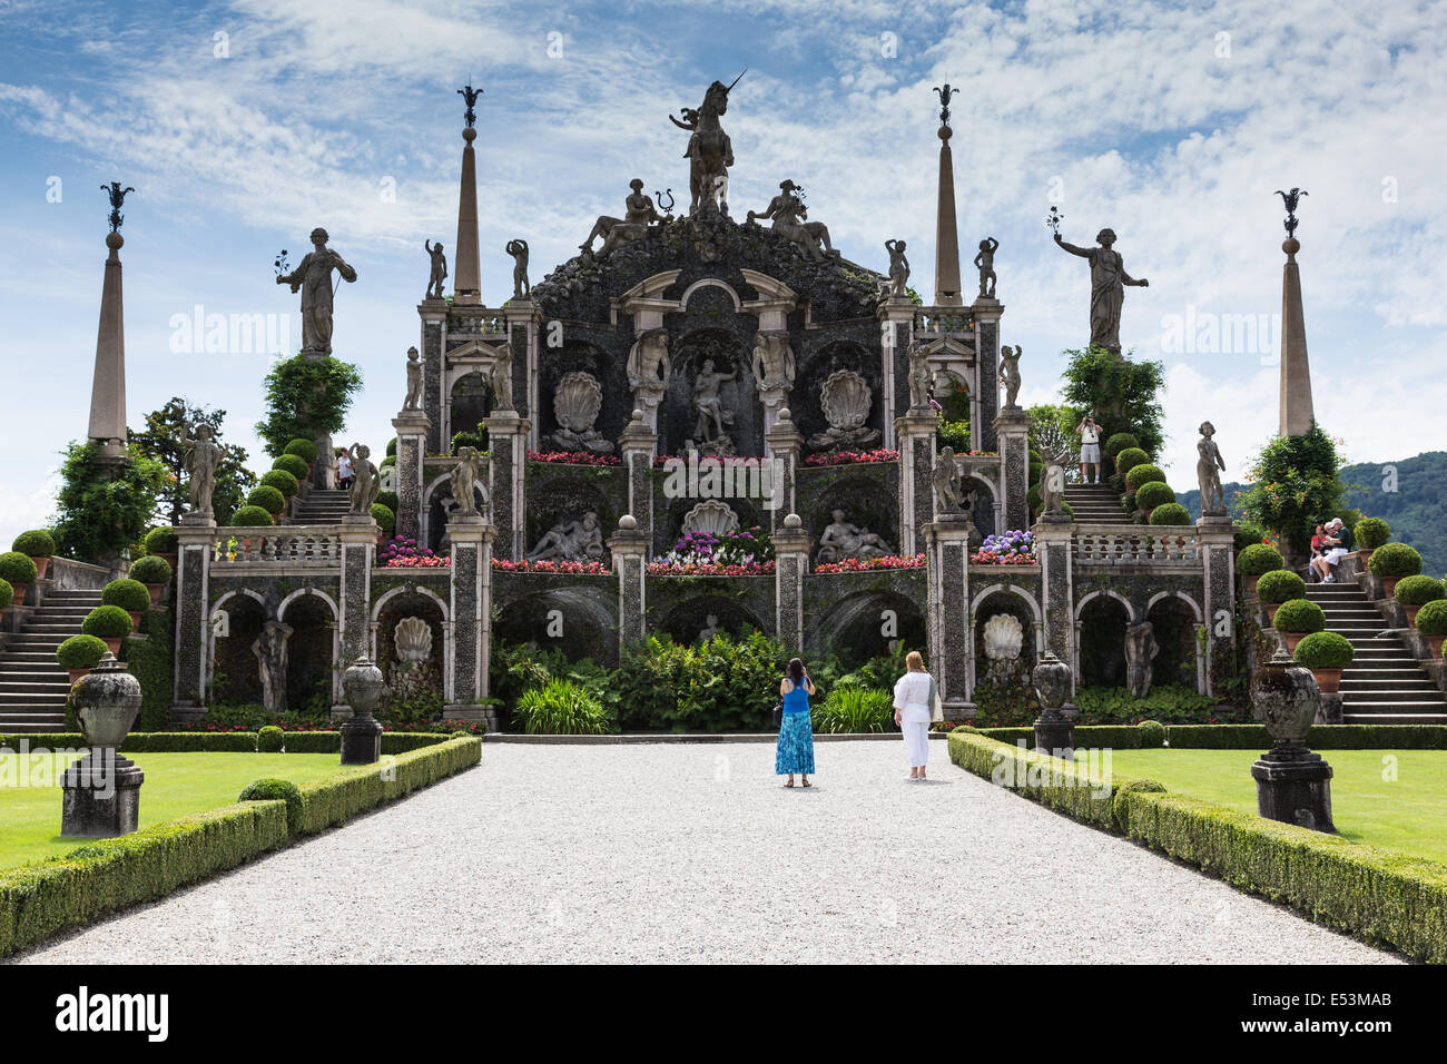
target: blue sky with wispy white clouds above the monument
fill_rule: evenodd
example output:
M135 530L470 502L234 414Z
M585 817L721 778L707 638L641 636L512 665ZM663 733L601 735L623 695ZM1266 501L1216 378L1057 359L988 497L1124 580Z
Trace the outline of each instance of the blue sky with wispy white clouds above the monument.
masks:
M1165 363L1172 486L1195 486L1207 418L1239 478L1276 428L1273 193L1301 187L1318 420L1353 462L1441 449L1444 52L1447 6L1408 0L0 0L0 546L45 524L59 453L85 434L113 180L137 190L122 230L132 427L182 395L224 408L226 439L269 465L260 382L301 340L272 263L285 248L295 265L320 224L359 275L336 300L334 353L366 382L343 436L385 443L423 240L449 256L456 240L469 81L492 305L511 294L509 239L541 279L621 213L629 178L682 195L686 135L667 116L744 68L725 117L735 214L793 178L846 258L884 272L884 240L906 239L928 298L930 90L948 81L965 287L975 245L998 239L1022 402L1053 401L1061 352L1088 340L1088 266L1051 243L1056 206L1066 240L1110 226L1150 281L1126 290L1121 342ZM269 332L195 349L210 316Z

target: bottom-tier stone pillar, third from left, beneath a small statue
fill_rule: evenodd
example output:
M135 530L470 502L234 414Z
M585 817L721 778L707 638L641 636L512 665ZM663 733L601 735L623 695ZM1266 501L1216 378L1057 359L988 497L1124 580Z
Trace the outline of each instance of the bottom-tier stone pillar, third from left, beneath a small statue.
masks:
M492 662L492 541L496 530L480 514L460 514L447 523L451 541L453 666L444 714L453 721L483 721L498 730L498 712L488 698Z

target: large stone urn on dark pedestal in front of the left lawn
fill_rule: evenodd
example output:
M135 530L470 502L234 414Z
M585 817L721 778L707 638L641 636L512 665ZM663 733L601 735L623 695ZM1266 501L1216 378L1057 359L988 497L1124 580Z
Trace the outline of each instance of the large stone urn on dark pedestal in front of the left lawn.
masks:
M140 819L146 776L117 747L140 712L140 680L114 654L100 659L71 689L90 753L61 777L61 834L81 838L129 835Z

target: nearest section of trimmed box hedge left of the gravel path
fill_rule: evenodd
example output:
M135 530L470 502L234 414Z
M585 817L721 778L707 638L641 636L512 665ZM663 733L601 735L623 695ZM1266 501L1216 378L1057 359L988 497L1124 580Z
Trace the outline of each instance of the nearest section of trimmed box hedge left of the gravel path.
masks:
M0 957L164 898L285 841L284 802L245 802L0 870Z

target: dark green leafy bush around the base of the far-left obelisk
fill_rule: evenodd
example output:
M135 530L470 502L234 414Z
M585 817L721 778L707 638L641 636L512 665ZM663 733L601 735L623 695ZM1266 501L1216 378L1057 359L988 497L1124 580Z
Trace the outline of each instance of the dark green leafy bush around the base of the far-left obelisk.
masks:
M100 460L100 444L72 443L61 465L55 497L55 553L77 562L111 565L155 521L156 499L169 470L132 443L119 468Z

